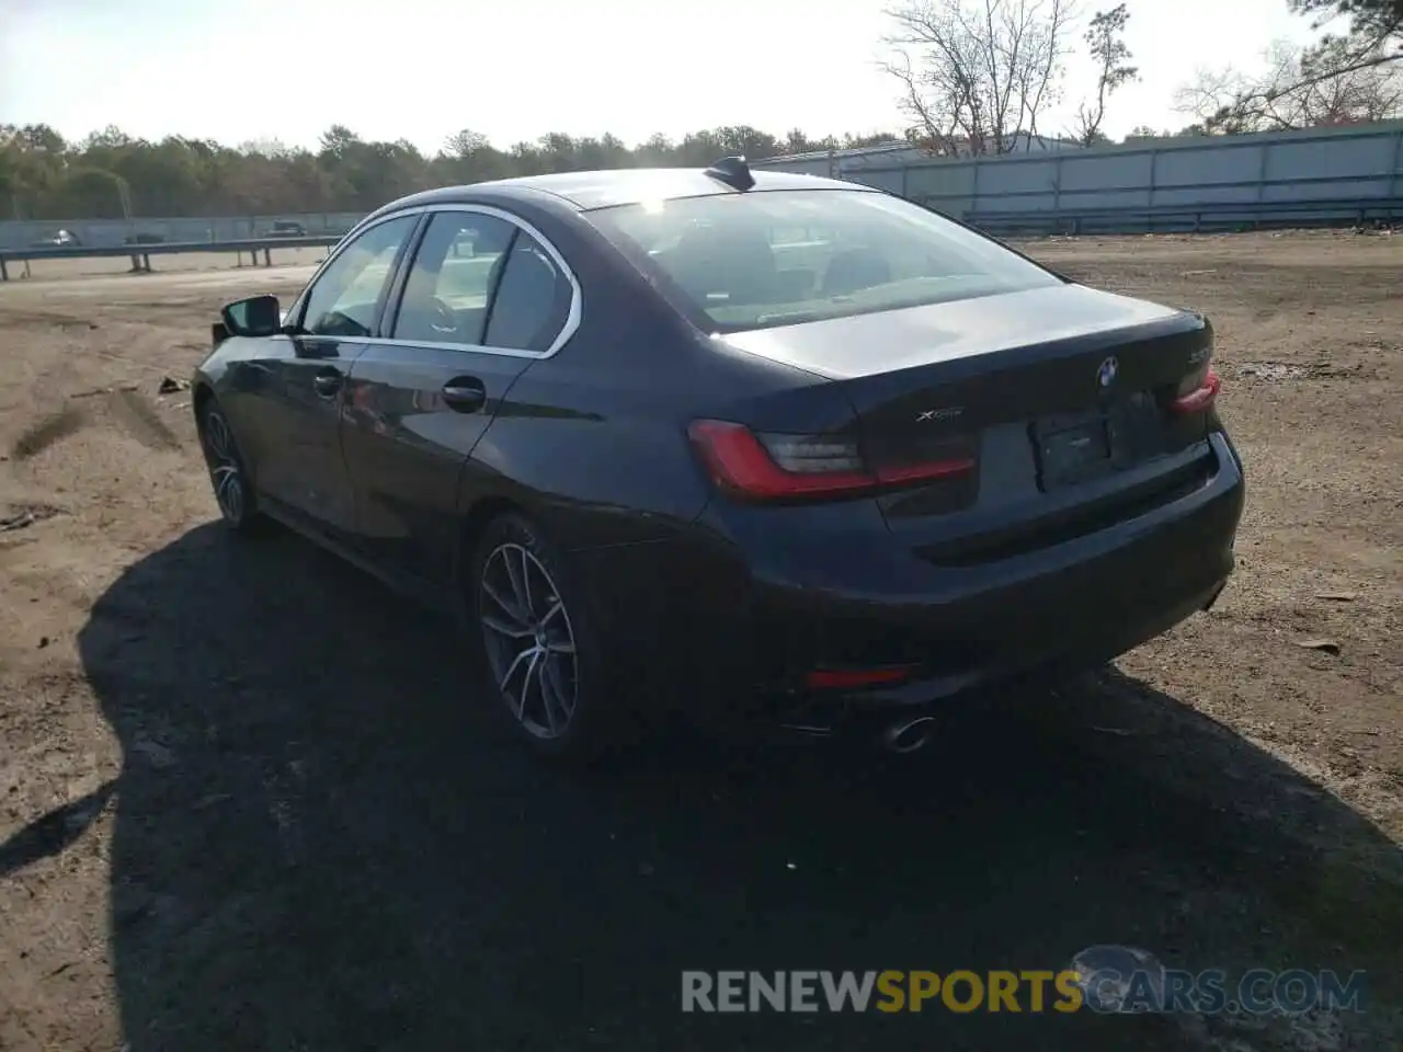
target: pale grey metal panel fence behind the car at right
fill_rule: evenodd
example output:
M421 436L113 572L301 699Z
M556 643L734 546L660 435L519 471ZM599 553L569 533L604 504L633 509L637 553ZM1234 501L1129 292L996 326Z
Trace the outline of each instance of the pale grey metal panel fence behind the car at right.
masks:
M811 159L765 167L811 170ZM1003 157L833 159L839 178L984 227L1143 230L1403 217L1403 121Z

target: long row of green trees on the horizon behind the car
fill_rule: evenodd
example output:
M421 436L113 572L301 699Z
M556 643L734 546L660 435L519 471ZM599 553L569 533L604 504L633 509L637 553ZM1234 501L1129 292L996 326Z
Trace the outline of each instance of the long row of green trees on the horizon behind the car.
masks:
M429 187L511 175L627 167L704 167L727 154L784 153L899 142L899 135L811 139L749 126L655 135L627 146L613 135L564 133L509 149L462 130L432 156L410 142L373 142L334 125L314 150L278 142L230 147L205 139L137 139L118 128L66 142L48 125L0 125L0 219L253 216L366 212Z

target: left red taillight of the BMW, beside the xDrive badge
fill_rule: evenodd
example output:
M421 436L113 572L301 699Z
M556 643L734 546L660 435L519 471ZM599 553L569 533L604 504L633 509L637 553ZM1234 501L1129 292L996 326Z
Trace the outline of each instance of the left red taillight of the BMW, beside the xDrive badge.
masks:
M756 501L856 497L967 476L975 467L972 452L922 463L870 466L856 438L765 433L718 419L693 421L687 436L718 488Z

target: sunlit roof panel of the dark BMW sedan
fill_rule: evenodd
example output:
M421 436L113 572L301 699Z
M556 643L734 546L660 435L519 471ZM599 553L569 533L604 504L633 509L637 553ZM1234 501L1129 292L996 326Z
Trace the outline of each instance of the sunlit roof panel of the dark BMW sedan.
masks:
M612 168L603 171L563 171L550 175L521 175L511 180L491 180L466 187L443 187L401 198L382 212L412 205L450 205L455 202L550 194L579 210L637 205L641 201L672 201L673 198L702 198L721 194L756 194L776 189L853 189L877 194L871 187L819 175L798 175L787 171L755 171L755 187L738 191L707 175L703 168Z

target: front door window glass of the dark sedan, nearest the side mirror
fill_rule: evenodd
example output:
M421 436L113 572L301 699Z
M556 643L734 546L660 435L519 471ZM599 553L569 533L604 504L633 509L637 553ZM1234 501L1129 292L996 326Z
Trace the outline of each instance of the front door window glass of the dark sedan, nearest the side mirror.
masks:
M370 335L394 257L417 220L418 216L389 219L348 244L307 293L302 327L327 337Z

